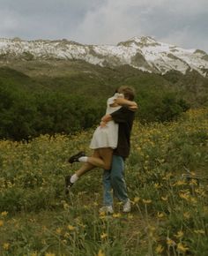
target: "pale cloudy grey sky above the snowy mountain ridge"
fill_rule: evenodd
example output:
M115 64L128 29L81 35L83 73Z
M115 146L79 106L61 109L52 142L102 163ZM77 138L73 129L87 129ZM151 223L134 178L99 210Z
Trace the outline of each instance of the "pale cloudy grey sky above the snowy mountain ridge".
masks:
M117 44L149 35L208 52L208 0L0 0L0 37Z

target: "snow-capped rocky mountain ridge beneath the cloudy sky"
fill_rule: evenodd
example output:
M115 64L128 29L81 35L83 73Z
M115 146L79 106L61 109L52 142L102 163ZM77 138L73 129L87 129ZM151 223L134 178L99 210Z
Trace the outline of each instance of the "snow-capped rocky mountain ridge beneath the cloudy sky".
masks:
M81 59L91 64L129 64L144 72L185 73L195 70L208 76L208 55L200 49L182 49L152 37L134 37L117 45L85 45L75 41L22 41L0 39L0 60Z

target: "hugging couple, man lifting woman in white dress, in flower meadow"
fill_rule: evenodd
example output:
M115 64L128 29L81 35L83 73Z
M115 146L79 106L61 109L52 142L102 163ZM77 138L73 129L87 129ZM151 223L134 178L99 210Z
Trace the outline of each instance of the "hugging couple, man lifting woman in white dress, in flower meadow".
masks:
M106 115L101 118L100 126L93 133L90 148L92 156L84 152L74 154L70 163L83 162L83 165L72 176L65 177L65 190L69 193L71 186L87 171L100 167L103 172L103 207L100 212L113 214L113 196L123 202L123 212L130 212L130 199L124 180L124 160L130 154L130 132L137 110L137 103L133 102L134 89L119 87L113 97L107 101Z

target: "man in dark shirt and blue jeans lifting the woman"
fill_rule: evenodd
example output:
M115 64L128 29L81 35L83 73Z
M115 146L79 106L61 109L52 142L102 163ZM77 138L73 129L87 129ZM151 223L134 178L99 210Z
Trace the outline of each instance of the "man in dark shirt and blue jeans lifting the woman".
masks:
M133 101L135 93L130 87L126 87L128 99ZM130 199L127 194L126 183L124 179L124 160L130 154L130 132L134 120L135 112L132 109L121 108L114 113L102 118L102 121L108 122L114 120L119 124L118 144L113 152L112 165L110 170L104 170L103 186L104 186L104 207L100 208L100 212L113 214L113 197L111 190L118 200L123 202L123 212L130 212Z

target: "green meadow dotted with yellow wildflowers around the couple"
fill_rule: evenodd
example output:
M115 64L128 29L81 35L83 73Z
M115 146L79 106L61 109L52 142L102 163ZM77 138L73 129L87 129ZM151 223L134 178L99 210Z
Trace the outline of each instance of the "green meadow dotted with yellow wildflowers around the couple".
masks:
M135 122L126 181L132 212L100 215L102 170L64 195L67 159L92 131L0 141L0 255L208 255L208 109L177 122Z

